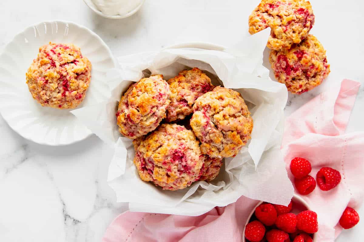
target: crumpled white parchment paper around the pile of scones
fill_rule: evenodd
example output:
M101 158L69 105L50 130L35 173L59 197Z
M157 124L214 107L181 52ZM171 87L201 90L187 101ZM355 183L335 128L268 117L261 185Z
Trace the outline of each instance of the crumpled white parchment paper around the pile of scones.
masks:
M103 141L114 147L108 182L118 202L129 202L131 211L198 216L215 206L235 202L240 196L287 205L293 186L287 177L280 152L286 87L269 79L262 67L262 53L269 30L245 38L225 52L197 48L164 49L119 57L119 68L108 73L111 98L108 102L72 111ZM219 176L211 184L195 182L178 191L162 190L142 181L133 164L131 140L118 132L115 112L118 101L132 81L148 69L168 80L183 69L198 67L212 80L241 93L254 120L252 139L233 158L225 159ZM260 77L258 77L258 75Z

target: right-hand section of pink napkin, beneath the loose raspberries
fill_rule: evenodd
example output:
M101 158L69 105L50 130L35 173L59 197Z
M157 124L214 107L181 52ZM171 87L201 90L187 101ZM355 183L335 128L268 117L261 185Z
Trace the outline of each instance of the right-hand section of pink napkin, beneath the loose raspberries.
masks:
M315 179L322 167L341 174L336 188L322 191L316 186L312 193L301 196L317 213L319 242L333 242L342 231L337 222L344 209L357 209L363 202L364 134L344 134L359 87L360 83L345 79L340 87L321 93L285 120L281 149L292 182L289 164L294 157L311 161L310 175Z

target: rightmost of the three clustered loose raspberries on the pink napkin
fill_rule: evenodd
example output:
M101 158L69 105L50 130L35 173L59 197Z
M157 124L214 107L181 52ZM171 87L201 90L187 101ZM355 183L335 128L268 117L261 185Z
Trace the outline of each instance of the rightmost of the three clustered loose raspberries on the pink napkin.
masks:
M333 189L341 181L340 172L330 167L323 167L316 175L317 185L323 191Z

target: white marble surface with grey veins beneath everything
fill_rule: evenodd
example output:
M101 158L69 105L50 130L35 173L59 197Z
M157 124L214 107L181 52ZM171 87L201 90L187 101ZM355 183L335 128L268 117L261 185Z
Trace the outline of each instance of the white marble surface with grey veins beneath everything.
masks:
M323 85L289 96L286 115L343 77L364 82L362 1L311 0L312 29L327 49L332 73ZM115 56L156 50L190 41L233 45L247 33L254 1L146 0L134 16L108 20L82 0L14 1L0 4L0 49L26 26L43 20L70 20L87 26ZM25 70L19 70L25 73ZM363 131L363 87L347 132ZM106 184L110 152L96 136L65 147L24 140L0 117L0 241L100 241L112 219L126 209ZM359 210L364 216L364 208ZM361 241L364 222L337 241Z

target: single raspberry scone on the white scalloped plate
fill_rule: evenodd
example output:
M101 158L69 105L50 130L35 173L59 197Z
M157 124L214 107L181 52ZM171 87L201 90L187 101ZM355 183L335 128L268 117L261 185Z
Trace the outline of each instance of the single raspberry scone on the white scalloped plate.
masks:
M73 44L49 43L25 74L29 91L42 106L75 108L85 98L91 81L91 63Z

